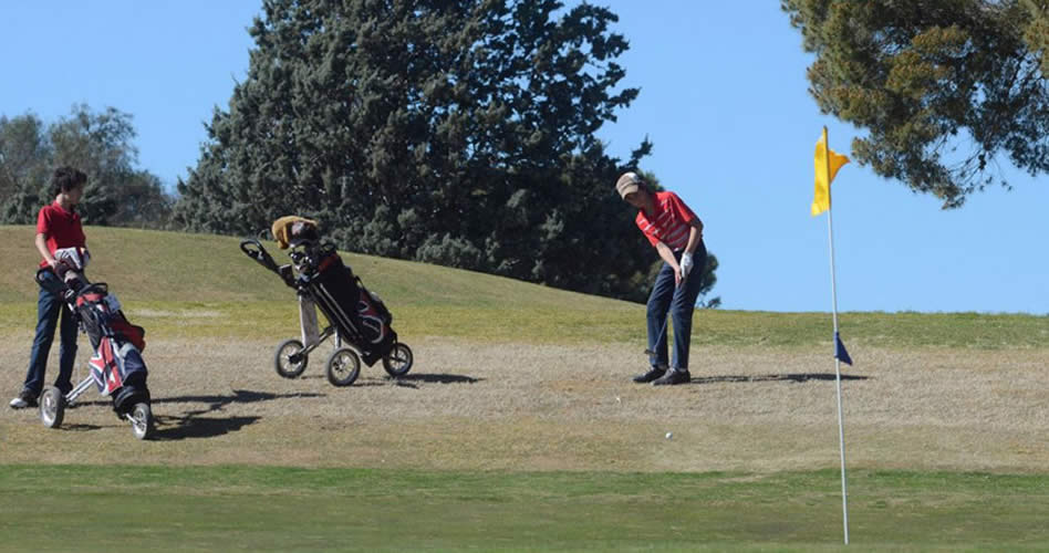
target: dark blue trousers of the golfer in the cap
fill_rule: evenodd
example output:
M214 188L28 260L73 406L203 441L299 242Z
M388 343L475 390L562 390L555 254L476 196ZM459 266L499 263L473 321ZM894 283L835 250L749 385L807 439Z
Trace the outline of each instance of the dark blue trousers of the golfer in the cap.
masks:
M682 252L674 253L681 261ZM703 268L707 261L707 250L700 242L693 252L693 268L688 278L682 284L675 285L674 269L663 263L663 269L656 275L652 293L648 295L648 349L655 352L650 357L654 367L673 367L688 369L688 343L692 340L692 313L696 309L696 298L699 296L699 285L703 280ZM674 363L667 364L667 311L674 321Z

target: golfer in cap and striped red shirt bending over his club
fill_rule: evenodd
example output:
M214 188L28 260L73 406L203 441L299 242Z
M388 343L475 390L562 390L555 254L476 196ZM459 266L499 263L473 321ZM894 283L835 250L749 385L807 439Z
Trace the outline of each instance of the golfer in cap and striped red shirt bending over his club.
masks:
M663 259L648 295L648 372L636 383L655 386L685 384L692 315L703 280L707 250L703 221L672 191L654 191L636 173L624 173L615 182L624 201L637 208L634 222ZM674 321L674 358L667 358L667 312Z

